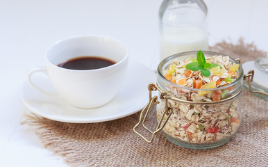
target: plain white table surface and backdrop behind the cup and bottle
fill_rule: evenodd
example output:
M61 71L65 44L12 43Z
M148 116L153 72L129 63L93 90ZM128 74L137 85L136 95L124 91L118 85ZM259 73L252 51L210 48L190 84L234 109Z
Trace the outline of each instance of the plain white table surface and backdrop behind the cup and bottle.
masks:
M158 8L162 0L0 1L0 166L67 166L20 125L30 112L20 90L30 67L44 65L44 51L61 38L102 34L119 38L130 60L154 69ZM244 37L268 50L266 0L206 0L209 43Z

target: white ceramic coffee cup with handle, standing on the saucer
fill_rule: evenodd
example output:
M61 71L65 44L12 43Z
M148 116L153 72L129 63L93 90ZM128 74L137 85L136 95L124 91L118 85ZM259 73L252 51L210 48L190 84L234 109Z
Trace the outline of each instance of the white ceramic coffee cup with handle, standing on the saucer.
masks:
M108 58L116 63L95 70L69 70L58 64L79 56ZM103 35L66 38L51 45L45 54L46 67L28 72L27 81L41 93L52 95L33 84L35 72L49 75L58 96L78 108L95 108L112 100L126 76L128 49L121 41Z

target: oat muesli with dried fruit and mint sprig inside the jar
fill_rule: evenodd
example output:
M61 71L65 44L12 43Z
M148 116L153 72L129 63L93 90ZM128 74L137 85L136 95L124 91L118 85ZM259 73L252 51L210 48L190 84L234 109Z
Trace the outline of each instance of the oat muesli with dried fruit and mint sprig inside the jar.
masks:
M158 86L174 97L167 101L173 113L162 131L178 141L215 143L231 138L240 125L242 68L229 56L210 51L205 55L186 52L158 67ZM165 114L164 101L157 105L158 122Z

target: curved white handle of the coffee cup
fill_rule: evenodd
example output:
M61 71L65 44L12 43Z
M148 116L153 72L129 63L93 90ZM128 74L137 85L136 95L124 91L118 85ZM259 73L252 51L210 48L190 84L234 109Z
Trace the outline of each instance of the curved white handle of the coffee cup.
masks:
M31 79L31 77L32 77L32 75L34 73L37 73L37 72L41 72L41 73L46 74L47 76L49 76L49 74L47 73L47 70L46 70L45 67L33 67L30 70L28 70L28 72L27 72L27 81L28 81L28 84L30 84L33 88L35 88L35 90L38 90L40 93L43 93L43 94L49 95L49 96L53 96L53 97L57 97L58 94L56 94L56 93L50 93L49 91L43 90L42 88L39 88L38 86L36 86L35 84L33 84L33 81Z

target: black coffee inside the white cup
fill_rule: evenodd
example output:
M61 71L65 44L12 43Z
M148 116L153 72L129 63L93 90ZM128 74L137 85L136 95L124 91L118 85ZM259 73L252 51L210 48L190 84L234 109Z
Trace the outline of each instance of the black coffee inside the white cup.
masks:
M83 56L69 59L64 63L58 64L58 66L71 70L94 70L102 67L108 67L113 64L115 64L115 61L111 61L108 58Z

